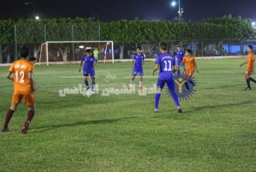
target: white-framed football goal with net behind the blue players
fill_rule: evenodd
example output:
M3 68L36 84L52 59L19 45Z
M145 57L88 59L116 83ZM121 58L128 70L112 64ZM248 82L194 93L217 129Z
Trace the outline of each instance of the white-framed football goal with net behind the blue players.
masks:
M94 56L98 52L100 62L114 62L113 41L47 41L41 44L39 65L78 63L87 49Z

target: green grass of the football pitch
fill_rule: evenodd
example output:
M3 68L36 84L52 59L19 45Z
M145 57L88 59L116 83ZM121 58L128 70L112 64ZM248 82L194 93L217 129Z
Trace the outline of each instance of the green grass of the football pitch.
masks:
M11 131L0 133L0 171L255 171L256 85L243 91L242 61L198 60L196 94L181 101L183 114L167 95L155 114L154 95L139 96L137 88L101 96L105 88L129 84L127 62L100 64L99 93L89 98L59 96L60 89L83 84L77 65L35 66L36 114L22 135L27 107L20 105ZM144 87L157 82L153 66L146 62ZM13 91L7 71L0 69L1 125ZM108 72L116 79L106 82Z

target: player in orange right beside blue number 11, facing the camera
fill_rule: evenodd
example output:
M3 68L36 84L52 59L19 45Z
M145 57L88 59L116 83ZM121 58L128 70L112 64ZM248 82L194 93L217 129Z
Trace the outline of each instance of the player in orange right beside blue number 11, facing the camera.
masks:
M191 54L192 54L191 49L186 49L185 57L183 58L181 64L179 65L179 67L181 67L183 64L186 64L186 72L184 73L184 79L186 80L185 86L188 91L190 90L190 88L188 86L187 81L191 83L193 86L195 86L195 84L192 81L195 68L196 68L196 72L198 72L198 66L196 65L196 58L193 57Z

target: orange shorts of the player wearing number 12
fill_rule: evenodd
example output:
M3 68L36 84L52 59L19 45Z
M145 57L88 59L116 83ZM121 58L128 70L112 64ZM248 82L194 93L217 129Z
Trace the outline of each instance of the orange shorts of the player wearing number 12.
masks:
M13 98L11 102L15 105L19 104L25 99L25 105L34 105L34 94L33 93L18 93L17 91L13 92Z

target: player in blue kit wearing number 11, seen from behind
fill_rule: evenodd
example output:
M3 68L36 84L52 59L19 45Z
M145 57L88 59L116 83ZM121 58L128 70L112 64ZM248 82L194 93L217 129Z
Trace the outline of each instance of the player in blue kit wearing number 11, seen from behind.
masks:
M178 67L175 62L174 55L167 53L167 44L160 44L160 55L157 56L155 60L155 68L153 69L153 75L155 71L160 68L159 77L158 77L158 91L155 93L155 112L159 112L158 105L160 100L160 95L162 88L167 84L170 93L172 94L172 99L174 100L177 111L181 113L181 107L179 104L179 98L174 91L174 77L173 77L173 67L174 70L177 70Z

